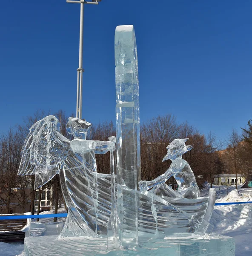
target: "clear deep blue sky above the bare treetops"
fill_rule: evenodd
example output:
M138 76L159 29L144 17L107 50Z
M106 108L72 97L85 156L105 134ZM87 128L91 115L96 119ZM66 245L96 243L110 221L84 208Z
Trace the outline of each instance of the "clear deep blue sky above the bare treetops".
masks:
M78 4L3 1L0 132L36 110L75 112ZM83 118L115 122L114 33L137 38L140 120L172 113L225 138L252 118L252 1L102 0L85 6Z

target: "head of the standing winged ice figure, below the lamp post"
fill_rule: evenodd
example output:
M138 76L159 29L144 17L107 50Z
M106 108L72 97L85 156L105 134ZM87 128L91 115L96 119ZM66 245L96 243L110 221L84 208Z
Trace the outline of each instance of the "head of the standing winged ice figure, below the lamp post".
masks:
M77 117L69 117L68 120L66 124L67 132L72 134L74 139L86 140L87 132L92 124Z

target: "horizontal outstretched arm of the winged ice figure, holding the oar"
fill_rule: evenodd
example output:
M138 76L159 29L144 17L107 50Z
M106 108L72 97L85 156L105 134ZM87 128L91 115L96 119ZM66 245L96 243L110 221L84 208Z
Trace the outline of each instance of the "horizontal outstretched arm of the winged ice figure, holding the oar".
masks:
M94 150L95 154L106 154L109 150L115 150L115 143L112 141L100 140L80 140L75 139L70 143L74 153L83 154L89 150Z

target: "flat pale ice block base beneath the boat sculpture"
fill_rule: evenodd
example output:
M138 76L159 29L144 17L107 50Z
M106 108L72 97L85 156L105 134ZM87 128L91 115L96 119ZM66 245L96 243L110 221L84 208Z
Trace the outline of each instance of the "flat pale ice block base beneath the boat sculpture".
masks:
M123 244L123 251L108 251L106 239L101 238L27 237L24 242L24 256L235 256L234 240L228 236L164 239L141 237L139 247L131 247L130 244L129 242L128 247Z

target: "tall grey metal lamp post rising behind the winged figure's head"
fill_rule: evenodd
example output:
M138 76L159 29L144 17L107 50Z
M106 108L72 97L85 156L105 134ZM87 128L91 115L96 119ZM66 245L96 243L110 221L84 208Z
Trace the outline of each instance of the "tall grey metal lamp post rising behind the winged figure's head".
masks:
M101 0L92 0L88 2L85 0L66 0L67 3L80 3L80 51L79 51L79 67L77 69L77 100L76 100L76 117L81 119L82 116L82 87L83 87L83 18L84 18L84 4L98 5Z

